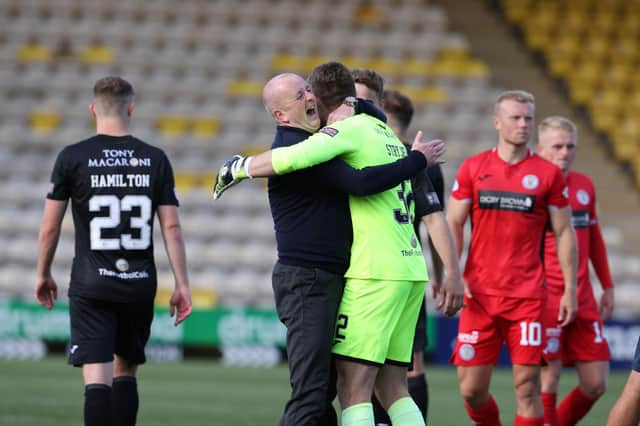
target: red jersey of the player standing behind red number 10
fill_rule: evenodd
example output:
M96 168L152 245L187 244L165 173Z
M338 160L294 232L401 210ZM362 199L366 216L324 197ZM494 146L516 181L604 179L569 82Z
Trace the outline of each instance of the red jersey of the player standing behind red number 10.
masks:
M591 179L573 171L569 172L567 176L567 186L569 188L569 205L572 211L571 219L578 240L578 306L580 311L583 309L597 311L589 278L589 259L591 259L603 288L613 287L613 280L607 261L604 239L598 225L595 189ZM547 232L545 237L544 252L549 297L559 299L564 292L564 278L558 263L556 241L551 232Z

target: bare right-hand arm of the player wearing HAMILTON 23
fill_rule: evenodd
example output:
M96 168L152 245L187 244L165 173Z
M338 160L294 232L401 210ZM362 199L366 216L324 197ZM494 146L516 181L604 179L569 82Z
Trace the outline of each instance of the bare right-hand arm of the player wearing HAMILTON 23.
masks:
M178 325L191 314L192 309L187 276L187 255L178 208L174 205L158 206L158 219L169 264L175 278L175 288L169 302L170 315L173 316L177 311L175 325Z

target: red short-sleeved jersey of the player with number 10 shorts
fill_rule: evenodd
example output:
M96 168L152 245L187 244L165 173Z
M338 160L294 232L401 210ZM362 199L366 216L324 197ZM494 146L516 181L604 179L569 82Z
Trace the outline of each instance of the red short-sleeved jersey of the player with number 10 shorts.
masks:
M464 270L471 292L546 297L542 255L548 209L568 205L560 169L531 151L509 164L493 148L462 163L451 196L471 203Z

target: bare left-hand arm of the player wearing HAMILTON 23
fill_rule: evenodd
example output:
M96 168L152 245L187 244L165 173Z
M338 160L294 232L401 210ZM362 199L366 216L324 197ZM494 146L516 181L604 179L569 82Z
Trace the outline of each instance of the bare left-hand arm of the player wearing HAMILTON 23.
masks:
M49 309L58 298L58 286L51 275L51 264L60 240L66 209L67 201L47 199L38 236L35 296L39 304Z

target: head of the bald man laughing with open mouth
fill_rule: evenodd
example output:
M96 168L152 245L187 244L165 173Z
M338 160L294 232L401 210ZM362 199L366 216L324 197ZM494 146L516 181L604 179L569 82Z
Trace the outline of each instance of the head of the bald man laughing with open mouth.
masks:
M281 126L310 133L320 127L315 96L309 84L297 74L278 74L269 80L262 89L262 102Z

